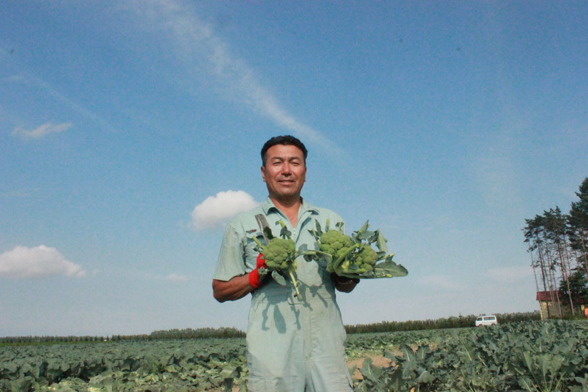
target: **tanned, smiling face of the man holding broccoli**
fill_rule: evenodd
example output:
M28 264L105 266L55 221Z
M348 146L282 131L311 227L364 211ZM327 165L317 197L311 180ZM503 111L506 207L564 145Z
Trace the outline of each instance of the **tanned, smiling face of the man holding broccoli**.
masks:
M265 155L261 175L272 199L300 197L300 190L306 181L306 165L302 151L296 146L271 146Z

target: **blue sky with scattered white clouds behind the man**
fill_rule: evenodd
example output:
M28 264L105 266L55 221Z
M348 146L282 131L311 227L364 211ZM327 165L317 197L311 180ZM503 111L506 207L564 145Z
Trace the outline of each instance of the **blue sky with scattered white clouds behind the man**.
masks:
M520 229L588 176L586 2L2 2L0 336L246 328L223 225L259 150L399 279L345 323L538 309ZM230 192L229 192L230 191Z

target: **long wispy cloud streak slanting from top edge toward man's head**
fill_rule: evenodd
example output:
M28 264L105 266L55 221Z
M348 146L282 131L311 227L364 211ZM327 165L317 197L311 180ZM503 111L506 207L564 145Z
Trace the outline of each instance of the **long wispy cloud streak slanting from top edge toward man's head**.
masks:
M137 2L135 11L143 18L153 19L162 25L176 48L176 56L183 59L188 69L204 60L216 82L227 91L226 98L245 103L300 138L331 152L340 151L332 140L283 108L275 96L262 86L246 62L232 53L230 45L215 33L213 26L198 18L192 9L174 0L152 0Z

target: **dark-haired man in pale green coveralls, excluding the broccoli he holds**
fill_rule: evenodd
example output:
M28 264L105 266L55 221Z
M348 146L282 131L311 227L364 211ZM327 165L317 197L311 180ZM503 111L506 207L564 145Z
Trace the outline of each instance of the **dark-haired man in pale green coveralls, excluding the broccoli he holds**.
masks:
M342 222L336 213L300 197L306 181L308 152L293 136L277 136L263 145L261 174L268 199L236 216L226 227L212 288L216 300L238 300L252 293L247 329L249 388L254 392L351 391L345 364L345 328L335 289L351 292L359 280L328 273L317 262L296 260L300 296L293 284L281 286L271 276L260 279L263 258L252 236L263 242L255 215L263 214L278 235L282 220L296 249L316 249L309 229L318 220L325 227Z

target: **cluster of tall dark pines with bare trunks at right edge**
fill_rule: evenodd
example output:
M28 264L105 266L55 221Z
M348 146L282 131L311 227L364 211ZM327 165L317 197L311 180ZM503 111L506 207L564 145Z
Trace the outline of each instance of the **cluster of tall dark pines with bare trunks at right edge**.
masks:
M588 177L576 192L570 212L558 206L525 219L524 242L529 245L537 292L550 302L547 317L572 316L588 304Z

